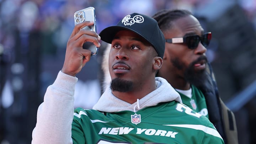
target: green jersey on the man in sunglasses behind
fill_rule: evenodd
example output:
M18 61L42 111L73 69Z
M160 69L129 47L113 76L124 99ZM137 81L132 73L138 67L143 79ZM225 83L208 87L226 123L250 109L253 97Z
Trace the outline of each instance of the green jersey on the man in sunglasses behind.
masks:
M192 89L191 98L177 91L181 96L182 103L190 107L193 111L200 113L203 116L206 116L207 118L209 118L206 101L202 91L197 89L197 87L195 87L194 85L191 85L191 89Z

